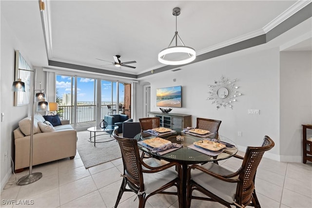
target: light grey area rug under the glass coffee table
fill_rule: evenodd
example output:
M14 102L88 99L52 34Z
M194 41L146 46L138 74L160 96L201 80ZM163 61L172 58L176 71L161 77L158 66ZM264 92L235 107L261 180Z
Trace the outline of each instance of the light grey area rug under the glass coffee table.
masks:
M96 141L114 139L109 134L99 136L98 134L100 133L97 133ZM94 146L94 143L88 141L90 132L77 132L77 137L77 150L85 168L90 168L121 157L120 148L115 139L109 142L96 143L96 146Z

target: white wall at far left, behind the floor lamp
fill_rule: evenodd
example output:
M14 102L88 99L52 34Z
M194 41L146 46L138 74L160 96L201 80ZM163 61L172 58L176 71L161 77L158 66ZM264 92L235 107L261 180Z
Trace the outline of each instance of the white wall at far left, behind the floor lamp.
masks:
M3 189L7 179L12 174L11 157L14 158L13 131L18 122L28 115L29 106L14 106L14 93L11 92L15 80L15 50L27 60L27 52L23 45L11 31L1 14L1 71L0 71L0 112L4 113L4 120L0 123L0 180ZM30 63L29 63L30 64ZM7 156L4 153L7 152Z

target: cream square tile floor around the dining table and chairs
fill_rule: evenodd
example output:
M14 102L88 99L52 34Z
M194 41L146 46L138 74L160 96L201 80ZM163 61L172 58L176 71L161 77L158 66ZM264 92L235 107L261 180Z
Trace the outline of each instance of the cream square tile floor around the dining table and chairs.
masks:
M241 152L240 152L241 154ZM236 170L241 160L230 158L220 165ZM17 178L28 173L24 170ZM112 208L121 184L122 161L85 169L77 155L74 160L39 165L33 172L42 172L40 180L25 186L7 186L1 192L0 207L6 208ZM312 163L283 163L263 158L256 174L255 188L262 208L311 208ZM14 181L14 176L10 181ZM8 188L9 187L9 188ZM125 192L120 208L136 208L134 193ZM32 205L8 205L5 200L28 200ZM134 201L135 200L135 201ZM25 201L24 201L25 202ZM155 195L148 199L146 208L177 208L176 196ZM217 203L192 200L192 208L223 208Z

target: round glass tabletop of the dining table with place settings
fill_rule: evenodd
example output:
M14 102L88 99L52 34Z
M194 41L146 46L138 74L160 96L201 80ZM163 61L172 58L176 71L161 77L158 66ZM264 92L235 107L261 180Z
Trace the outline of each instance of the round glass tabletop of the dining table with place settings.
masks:
M177 136L183 136L184 140L183 141L177 140ZM157 152L153 153L151 152L149 148L138 144L138 148L140 150L145 151L149 154L155 155L157 157L161 157L162 159L165 159L167 161L176 161L176 162L187 163L187 164L197 164L197 163L202 163L202 162L223 160L223 159L232 157L238 151L237 146L232 140L221 135L218 136L218 140L221 141L221 143L223 142L225 144L227 143L231 145L228 145L228 147L224 148L223 151L216 156L207 154L209 152L202 153L201 151L196 151L189 147L190 145L193 145L194 142L201 141L206 138L195 136L195 135L190 135L190 134L180 132L180 131L173 132L170 135L162 135L162 136L159 136L159 135L155 136L149 133L141 132L136 135L135 139L137 139L137 141L143 141L145 139L151 139L155 137L161 137L163 139L171 141L172 143L183 145L183 147L180 149L168 152L163 155L159 155Z

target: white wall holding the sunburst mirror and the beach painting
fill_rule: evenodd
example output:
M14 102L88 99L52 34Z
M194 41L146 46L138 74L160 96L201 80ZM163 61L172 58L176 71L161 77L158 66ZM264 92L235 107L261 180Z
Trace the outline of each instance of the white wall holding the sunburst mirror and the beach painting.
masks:
M151 111L159 111L156 107L157 88L182 85L182 108L174 108L172 113L192 114L193 126L196 125L196 117L222 120L219 133L231 138L242 151L245 151L246 146L260 145L264 135L268 135L274 140L275 147L265 156L280 160L280 155L285 154L285 133L280 132L280 113L285 112L280 111L280 106L284 103L280 103L279 60L278 48L250 53L241 51L183 66L180 67L182 70L176 72L154 74L146 80L143 79L142 82L151 83ZM311 66L310 74L302 73L300 77L305 76L305 82L310 83L310 92L306 97L307 100L310 99L310 102L306 103L306 108L310 108L307 112L307 119L309 117L310 120L306 122L311 122ZM238 91L243 94L237 99L237 103L234 103L233 110L229 108L216 110L216 105L206 100L208 85L214 84L215 80L220 80L221 76L236 79L236 85L240 87ZM176 82L173 81L174 78ZM291 84L292 91L296 94L304 93L301 89L302 85L296 84L297 81L291 79L288 83ZM282 92L285 92L284 89ZM296 98L289 97L289 99ZM260 114L248 114L248 109L259 109ZM295 113L297 111L297 107L293 106L287 110L287 112L293 112L292 119L300 116ZM300 128L298 122L295 125L292 123L287 123L287 125L283 123L283 125L287 129ZM242 132L242 137L237 136L238 131ZM298 145L301 142L299 137L300 135L297 138ZM298 148L289 153L291 156L301 155Z

